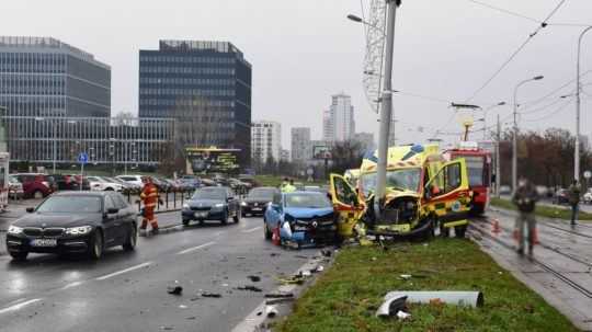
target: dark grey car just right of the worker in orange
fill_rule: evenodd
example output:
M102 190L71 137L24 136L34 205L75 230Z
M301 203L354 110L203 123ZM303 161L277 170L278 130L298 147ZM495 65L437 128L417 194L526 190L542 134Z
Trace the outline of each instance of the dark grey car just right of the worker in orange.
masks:
M232 217L235 222L240 221L240 202L232 191L226 186L203 187L183 204L181 211L183 225L187 226L192 220L203 224L205 220L220 220L227 224Z

